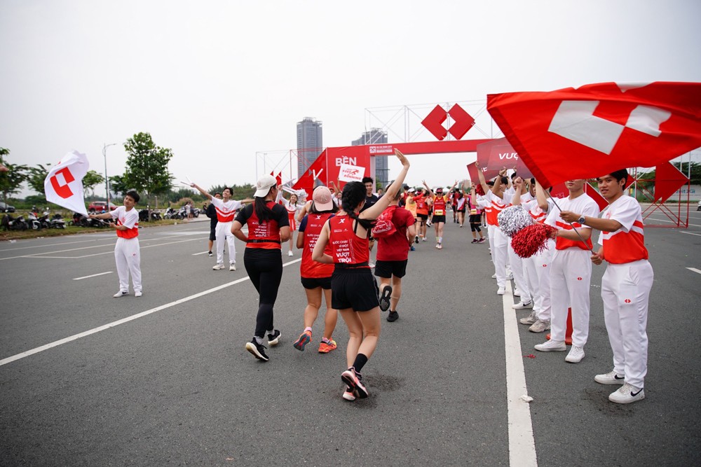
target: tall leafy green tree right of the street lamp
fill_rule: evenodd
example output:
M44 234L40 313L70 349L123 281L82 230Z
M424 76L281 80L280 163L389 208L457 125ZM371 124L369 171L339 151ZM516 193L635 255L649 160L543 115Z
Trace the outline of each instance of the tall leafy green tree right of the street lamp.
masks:
M170 190L173 179L168 172L168 162L173 157L170 148L156 146L149 133L137 133L126 141L124 149L128 153L124 172L128 186L146 193L147 199Z

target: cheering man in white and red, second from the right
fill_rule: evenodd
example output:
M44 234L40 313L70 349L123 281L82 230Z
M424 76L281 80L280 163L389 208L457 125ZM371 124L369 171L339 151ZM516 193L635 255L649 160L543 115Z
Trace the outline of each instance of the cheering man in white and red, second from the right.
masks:
M569 363L579 363L584 358L584 346L589 336L589 289L592 280L592 228L581 222L566 223L560 218L560 210L574 211L582 216L596 217L599 206L584 193L583 179L568 180L565 186L569 197L557 200L549 207L545 223L557 228L555 252L550 270L550 340L536 344L539 351L565 351L567 309L572 309L572 348L565 357ZM543 195L537 193L537 195ZM543 204L539 199L541 208ZM545 204L547 207L547 204ZM576 229L576 230L575 230ZM585 240L585 242L582 241Z

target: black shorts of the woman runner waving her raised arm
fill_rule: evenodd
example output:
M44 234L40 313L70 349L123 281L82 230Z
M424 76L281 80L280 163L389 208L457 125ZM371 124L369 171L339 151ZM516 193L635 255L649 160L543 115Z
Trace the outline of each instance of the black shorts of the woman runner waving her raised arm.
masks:
M331 277L331 307L367 312L379 307L377 284L369 267L335 270Z

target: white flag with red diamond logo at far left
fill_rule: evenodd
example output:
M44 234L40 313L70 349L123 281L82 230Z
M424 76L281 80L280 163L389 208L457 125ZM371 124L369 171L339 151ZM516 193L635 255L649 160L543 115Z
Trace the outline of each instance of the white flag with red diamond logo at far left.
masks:
M64 155L58 164L51 167L44 180L46 201L87 216L83 177L88 173L88 169L90 163L85 154L71 151Z

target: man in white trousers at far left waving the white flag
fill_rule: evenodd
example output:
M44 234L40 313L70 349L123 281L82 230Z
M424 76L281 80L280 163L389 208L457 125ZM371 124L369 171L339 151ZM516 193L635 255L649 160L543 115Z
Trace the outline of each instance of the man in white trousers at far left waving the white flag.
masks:
M124 196L124 205L114 211L102 214L89 214L93 219L112 218L116 222L109 223L117 232L117 243L114 246L114 260L117 263L119 276L119 291L114 298L123 297L129 293L129 273L134 286L134 296L142 295L141 284L141 251L139 249L139 213L134 209L139 202L139 193L129 190Z

